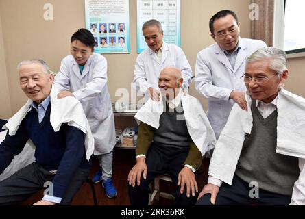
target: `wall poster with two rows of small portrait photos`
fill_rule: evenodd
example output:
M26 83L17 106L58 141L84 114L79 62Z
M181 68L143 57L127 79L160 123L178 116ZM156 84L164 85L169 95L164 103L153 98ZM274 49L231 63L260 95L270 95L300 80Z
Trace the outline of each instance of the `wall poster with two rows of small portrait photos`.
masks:
M85 0L85 16L95 53L130 53L128 0Z

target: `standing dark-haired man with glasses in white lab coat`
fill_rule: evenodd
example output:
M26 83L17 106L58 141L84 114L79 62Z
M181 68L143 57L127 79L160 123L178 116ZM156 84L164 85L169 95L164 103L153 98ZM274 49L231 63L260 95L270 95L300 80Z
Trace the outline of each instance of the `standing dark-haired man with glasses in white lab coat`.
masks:
M240 38L241 23L230 10L217 12L210 18L209 26L210 36L216 43L197 55L195 86L208 99L208 119L218 138L234 103L247 110L245 84L240 79L245 59L266 44Z

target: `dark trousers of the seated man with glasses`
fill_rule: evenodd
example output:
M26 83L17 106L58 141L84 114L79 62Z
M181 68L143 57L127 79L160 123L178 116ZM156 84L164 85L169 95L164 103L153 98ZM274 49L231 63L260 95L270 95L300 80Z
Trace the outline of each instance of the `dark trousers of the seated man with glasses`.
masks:
M249 183L234 175L232 185L223 183L219 188L215 205L289 205L291 196L284 196L266 190L258 190L258 198L251 198ZM200 198L196 205L212 205L210 194Z

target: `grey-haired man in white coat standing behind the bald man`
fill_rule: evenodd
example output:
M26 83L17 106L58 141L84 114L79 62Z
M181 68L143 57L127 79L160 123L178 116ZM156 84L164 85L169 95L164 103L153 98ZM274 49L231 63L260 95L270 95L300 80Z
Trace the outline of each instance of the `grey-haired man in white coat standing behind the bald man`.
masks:
M136 58L134 66L134 81L132 86L146 99L160 99L158 78L161 70L167 66L175 66L181 70L183 77L182 88L187 89L191 83L192 69L184 52L174 44L163 42L163 30L157 20L149 20L142 26L147 48Z

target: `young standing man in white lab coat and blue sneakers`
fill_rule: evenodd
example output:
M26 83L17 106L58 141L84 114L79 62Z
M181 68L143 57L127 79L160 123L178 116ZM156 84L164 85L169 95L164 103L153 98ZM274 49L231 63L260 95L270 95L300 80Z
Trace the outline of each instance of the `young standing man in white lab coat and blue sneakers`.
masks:
M108 198L117 196L112 183L112 149L116 144L112 103L107 87L107 61L93 53L94 37L79 29L71 37L71 55L60 65L53 86L62 90L58 98L75 96L83 105L95 138L94 155L98 155L102 170L93 181L102 180Z

